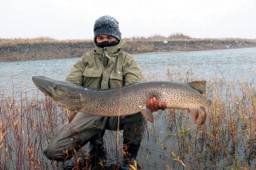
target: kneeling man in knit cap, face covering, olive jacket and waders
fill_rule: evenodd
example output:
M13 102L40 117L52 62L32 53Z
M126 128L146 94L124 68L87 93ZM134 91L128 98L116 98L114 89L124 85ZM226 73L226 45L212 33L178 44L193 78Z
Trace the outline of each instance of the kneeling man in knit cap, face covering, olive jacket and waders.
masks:
M90 89L115 89L142 81L142 71L129 53L122 51L123 42L118 22L110 16L102 16L94 23L95 49L82 55L71 69L66 81ZM157 111L158 101L150 99L146 104ZM121 169L134 164L146 120L141 113L120 117L100 117L79 112L74 119L58 130L44 150L50 160L64 161L90 141L90 148L103 148L102 136L106 129L123 130L123 162Z

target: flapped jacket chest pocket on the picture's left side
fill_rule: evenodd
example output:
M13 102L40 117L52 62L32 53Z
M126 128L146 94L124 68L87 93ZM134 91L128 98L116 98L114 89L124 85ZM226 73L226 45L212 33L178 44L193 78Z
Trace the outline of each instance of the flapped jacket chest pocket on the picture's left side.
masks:
M102 80L102 69L86 68L83 73L83 86L90 89L99 89Z

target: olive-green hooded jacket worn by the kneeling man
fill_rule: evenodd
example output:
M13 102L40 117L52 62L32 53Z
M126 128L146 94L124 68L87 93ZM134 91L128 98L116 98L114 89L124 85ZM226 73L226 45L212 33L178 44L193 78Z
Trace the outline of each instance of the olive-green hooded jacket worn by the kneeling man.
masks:
M142 71L129 53L118 45L95 49L82 55L66 81L90 89L115 89L143 80Z

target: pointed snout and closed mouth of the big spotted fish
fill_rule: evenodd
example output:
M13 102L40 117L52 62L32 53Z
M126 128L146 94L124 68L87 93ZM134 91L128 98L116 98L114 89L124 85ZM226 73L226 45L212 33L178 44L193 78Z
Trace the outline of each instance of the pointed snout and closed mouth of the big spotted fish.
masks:
M49 89L50 82L46 81L46 77L34 76L32 77L32 81L34 82L34 85L42 91L42 93L44 93L46 96L52 97Z

